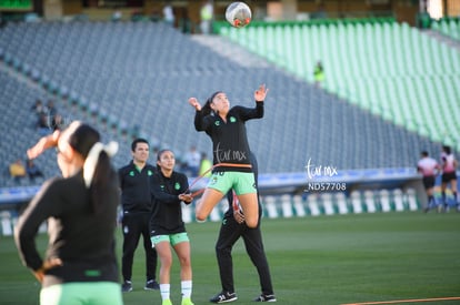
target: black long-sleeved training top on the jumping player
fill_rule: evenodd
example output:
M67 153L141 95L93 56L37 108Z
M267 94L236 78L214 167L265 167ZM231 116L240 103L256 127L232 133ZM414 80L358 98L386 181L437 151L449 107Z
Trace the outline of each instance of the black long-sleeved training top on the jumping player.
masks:
M201 111L194 115L194 128L204 131L212 140L213 164L251 164L246 121L263 116L263 102L256 108L233 106L227 114L227 122L218 114L203 116ZM249 167L219 166L219 171L251 172Z

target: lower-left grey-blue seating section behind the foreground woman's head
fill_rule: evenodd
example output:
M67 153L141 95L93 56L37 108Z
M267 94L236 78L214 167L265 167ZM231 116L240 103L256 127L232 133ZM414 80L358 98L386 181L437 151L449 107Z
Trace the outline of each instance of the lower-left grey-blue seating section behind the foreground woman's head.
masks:
M57 94L50 94L41 83L24 75L18 69L4 64L1 60L0 82L3 89L1 98L2 100L4 99L0 105L0 111L3 114L0 128L9 131L3 134L3 139L0 141L0 166L2 171L7 171L8 165L18 157L26 161L27 149L41 136L34 129L37 118L30 110L37 99L42 100L44 103L48 100L53 100L66 123L74 120L91 122L98 126L102 139L106 139L106 141L107 139L113 139L121 145L129 145L126 139L120 136L118 129L110 129L108 124L101 123L100 120L91 115L90 109L88 111L73 109L66 99ZM117 126L119 124L120 122L117 121ZM59 175L59 169L56 165L54 159L53 152L48 151L43 157L36 160L36 164L43 171L47 177ZM116 155L114 160L117 163L126 162L126 160L129 160L129 154L123 156ZM21 185L30 184L31 182L28 179L21 182ZM16 186L17 184L10 180L9 174L2 174L0 176L0 185Z

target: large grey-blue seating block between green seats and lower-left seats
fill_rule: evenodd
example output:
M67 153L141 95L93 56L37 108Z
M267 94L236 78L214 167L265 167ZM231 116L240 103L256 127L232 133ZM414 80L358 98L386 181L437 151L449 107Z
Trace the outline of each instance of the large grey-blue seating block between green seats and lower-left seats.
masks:
M270 89L266 115L248 122L247 128L251 149L266 173L303 171L310 157L317 164L338 169L413 166L421 150L439 150L439 144L427 138L394 126L292 73L273 69L274 62L268 68L264 63L242 67L189 35L157 26L9 24L0 32L0 50L7 57L18 57L19 61L6 61L12 69L24 73L21 67L27 63L38 72L34 79L47 92L57 87L58 92L52 94L67 92L62 95L72 109L94 114L91 119L98 123L108 121L112 136L124 140L123 130L136 124L152 146L172 149L179 160L192 144L211 154L209 139L193 129L193 111L187 104L190 94L204 101L213 91L223 90L233 103L251 106L253 90L260 83ZM291 41L289 50L302 58L298 47ZM372 93L362 91L366 95ZM122 145L116 165L129 159L128 145Z

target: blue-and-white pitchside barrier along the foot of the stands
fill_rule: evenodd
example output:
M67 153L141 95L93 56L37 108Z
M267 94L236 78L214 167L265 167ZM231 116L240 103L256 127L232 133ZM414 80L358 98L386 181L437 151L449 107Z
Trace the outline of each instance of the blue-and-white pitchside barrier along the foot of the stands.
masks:
M333 171L311 176L309 172L261 174L260 197L263 216L308 217L350 213L418 211L424 206L421 176L414 169ZM190 180L191 191L207 180ZM12 235L18 215L40 186L0 189L0 235ZM197 199L199 200L199 199ZM209 216L220 221L227 210L222 200ZM183 221L194 222L193 204L183 206ZM44 227L41 228L43 232Z

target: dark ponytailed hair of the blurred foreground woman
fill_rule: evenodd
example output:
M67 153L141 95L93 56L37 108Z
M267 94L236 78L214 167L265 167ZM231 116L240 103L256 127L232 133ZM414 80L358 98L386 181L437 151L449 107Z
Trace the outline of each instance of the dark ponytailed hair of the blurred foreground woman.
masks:
M97 130L88 124L79 125L73 133L69 135L69 144L80 153L86 160L91 148L100 141L100 134ZM107 193L110 192L113 181L117 181L117 173L110 163L110 156L101 151L98 164L90 185L90 201L96 214L103 211L103 203L107 202Z

